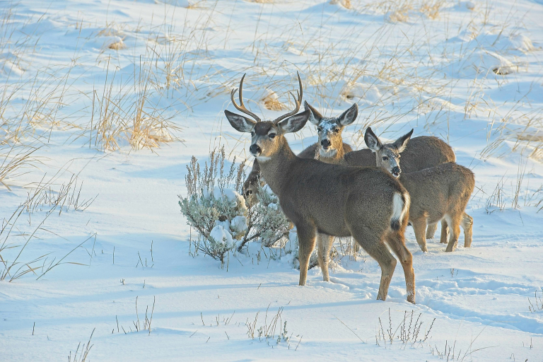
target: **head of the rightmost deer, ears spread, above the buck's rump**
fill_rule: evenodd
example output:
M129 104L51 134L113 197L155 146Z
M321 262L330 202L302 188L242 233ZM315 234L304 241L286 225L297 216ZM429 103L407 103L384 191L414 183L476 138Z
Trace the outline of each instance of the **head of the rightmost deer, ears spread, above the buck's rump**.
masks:
M392 144L382 144L378 136L375 136L371 128L368 127L366 134L364 134L364 141L366 146L375 153L377 167L384 168L394 177L399 177L399 174L402 173L402 169L399 168L399 154L406 148L411 134L413 134L413 129Z

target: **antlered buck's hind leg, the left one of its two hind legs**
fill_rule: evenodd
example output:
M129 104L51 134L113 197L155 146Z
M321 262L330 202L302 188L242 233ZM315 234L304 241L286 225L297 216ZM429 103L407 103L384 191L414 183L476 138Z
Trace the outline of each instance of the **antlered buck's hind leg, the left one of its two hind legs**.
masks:
M350 226L350 228L351 234L356 242L379 263L379 266L381 267L381 282L377 298L386 300L390 280L392 279L392 274L394 274L394 269L396 267L396 259L390 254L386 245L383 243L383 233L378 233L366 226Z

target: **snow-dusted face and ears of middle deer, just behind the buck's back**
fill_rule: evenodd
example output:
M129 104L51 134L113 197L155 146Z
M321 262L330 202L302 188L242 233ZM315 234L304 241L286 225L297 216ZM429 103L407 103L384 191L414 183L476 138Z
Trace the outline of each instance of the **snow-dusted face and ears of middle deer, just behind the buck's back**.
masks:
M309 122L317 126L317 134L319 135L318 144L321 157L333 158L338 150L343 148L343 138L341 132L345 126L353 123L358 116L358 105L354 103L348 110L341 113L339 117L322 117L309 103L304 102L305 110L311 111Z

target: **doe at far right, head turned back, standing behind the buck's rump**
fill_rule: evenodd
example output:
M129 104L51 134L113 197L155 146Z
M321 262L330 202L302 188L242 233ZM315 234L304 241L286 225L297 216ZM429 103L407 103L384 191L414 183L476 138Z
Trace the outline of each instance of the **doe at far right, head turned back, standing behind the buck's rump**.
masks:
M441 163L414 173L402 173L399 167L399 154L409 149L406 149L406 146L412 133L411 129L411 132L392 144L382 144L378 136L375 136L368 127L364 141L375 152L378 167L384 168L394 177L399 177L399 182L402 182L409 191L411 195L409 221L421 250L428 251L424 237L426 224L435 224L438 221L442 221L441 243L447 243L448 226L452 228L445 251L455 250L460 226L464 229L464 247L470 247L473 218L465 213L465 209L475 186L472 171L456 163Z

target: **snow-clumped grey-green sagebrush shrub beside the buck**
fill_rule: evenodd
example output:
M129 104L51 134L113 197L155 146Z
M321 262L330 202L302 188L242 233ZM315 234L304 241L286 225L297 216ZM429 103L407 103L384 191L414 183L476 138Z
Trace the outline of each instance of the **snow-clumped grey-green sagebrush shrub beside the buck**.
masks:
M279 206L279 199L269 187L260 187L259 202L247 207L241 196L245 179L245 163L225 169L224 148L212 151L201 170L197 158L187 165L187 197L180 197L182 214L187 223L197 231L192 245L221 264L229 252L243 252L250 241L259 241L263 247L279 249L284 255L296 251L296 236L291 235L291 225Z

